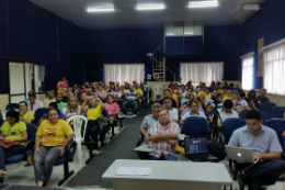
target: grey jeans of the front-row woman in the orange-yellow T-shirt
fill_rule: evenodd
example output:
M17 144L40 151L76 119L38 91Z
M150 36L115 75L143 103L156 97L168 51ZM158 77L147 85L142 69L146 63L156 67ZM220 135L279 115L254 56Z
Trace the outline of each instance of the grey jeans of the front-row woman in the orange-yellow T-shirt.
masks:
M60 150L58 150L60 147L61 146L39 146L39 152L36 153L34 157L36 182L45 181L47 183L49 181L54 164L60 157Z

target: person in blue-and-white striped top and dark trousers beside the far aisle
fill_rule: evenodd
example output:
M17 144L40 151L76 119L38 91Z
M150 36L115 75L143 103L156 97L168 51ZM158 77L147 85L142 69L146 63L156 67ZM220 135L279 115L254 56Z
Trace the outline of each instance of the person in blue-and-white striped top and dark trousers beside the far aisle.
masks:
M137 100L139 99L139 94L137 91L134 90L134 86L129 87L129 90L127 91L125 96L125 101L123 103L123 113L124 118L127 114L127 109L132 108L132 112L134 116L137 116Z

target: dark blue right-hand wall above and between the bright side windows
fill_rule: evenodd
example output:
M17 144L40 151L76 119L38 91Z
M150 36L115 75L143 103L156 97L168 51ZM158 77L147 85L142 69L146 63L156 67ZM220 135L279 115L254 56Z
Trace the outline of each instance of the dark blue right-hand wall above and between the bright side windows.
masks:
M285 37L285 1L267 0L253 18L242 24L241 55L254 52L254 88L263 87L263 77L256 77L258 41L264 37L264 46Z

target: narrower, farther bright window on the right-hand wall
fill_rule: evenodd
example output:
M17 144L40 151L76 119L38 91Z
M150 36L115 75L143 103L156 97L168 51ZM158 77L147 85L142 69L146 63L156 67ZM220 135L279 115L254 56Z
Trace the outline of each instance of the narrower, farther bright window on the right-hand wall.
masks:
M242 80L241 87L244 90L251 90L253 85L253 55L254 53L247 54L242 58Z

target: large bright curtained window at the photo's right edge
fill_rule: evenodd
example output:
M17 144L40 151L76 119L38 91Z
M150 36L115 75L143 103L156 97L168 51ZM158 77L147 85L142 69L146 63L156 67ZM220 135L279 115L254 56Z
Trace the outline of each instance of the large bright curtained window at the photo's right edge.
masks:
M263 86L269 93L285 96L285 43L263 48Z

